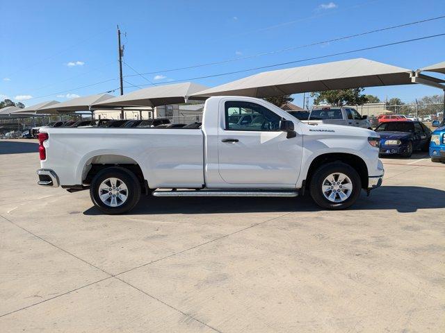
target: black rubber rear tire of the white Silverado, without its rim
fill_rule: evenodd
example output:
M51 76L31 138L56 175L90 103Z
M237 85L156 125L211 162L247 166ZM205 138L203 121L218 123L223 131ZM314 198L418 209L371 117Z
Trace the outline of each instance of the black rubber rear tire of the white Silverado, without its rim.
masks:
M120 182L124 182L124 185L127 186L127 191L124 192L127 194L127 199L124 201L124 203L118 205L117 207L106 205L106 203L104 203L99 197L99 186L107 178L118 178ZM90 186L90 197L92 203L94 203L95 206L105 214L124 214L129 212L138 203L140 199L140 192L140 182L136 175L122 167L109 167L99 171L99 173L92 178Z

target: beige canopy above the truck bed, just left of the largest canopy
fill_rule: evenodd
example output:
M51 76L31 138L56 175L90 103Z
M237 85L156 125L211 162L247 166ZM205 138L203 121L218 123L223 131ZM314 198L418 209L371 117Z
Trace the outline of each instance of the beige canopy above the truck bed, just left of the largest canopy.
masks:
M97 102L92 108L103 108L110 106L151 106L184 103L188 96L208 89L204 85L196 83L175 83L172 85L156 85L145 89L136 90L129 94Z

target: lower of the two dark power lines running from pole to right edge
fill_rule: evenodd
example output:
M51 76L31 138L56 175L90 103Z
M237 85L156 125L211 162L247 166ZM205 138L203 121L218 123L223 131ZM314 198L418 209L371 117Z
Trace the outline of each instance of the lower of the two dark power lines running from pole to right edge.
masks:
M426 39L429 39L429 38L440 37L440 36L444 36L444 35L445 35L445 33L439 33L437 35L429 35L429 36L424 36L424 37L419 37L419 38L412 38L410 40L402 40L402 41L399 41L399 42L392 42L392 43L388 43L388 44L369 46L369 47L364 47L362 49L355 49L355 50L344 51L344 52L339 52L339 53L331 53L331 54L327 54L325 56L305 58L305 59L288 61L288 62L280 62L279 64L273 64L273 65L267 65L267 66L261 66L261 67L254 67L254 68L250 68L250 69L242 69L242 70L239 70L239 71L229 71L229 72L226 72L226 73L212 74L212 75L207 75L207 76L199 76L199 77L195 77L195 78L185 78L185 79L182 79L182 80L171 80L169 82L182 82L182 81L190 81L190 80L199 80L199 79L202 79L202 78L215 78L217 76L238 74L238 73L244 73L246 71L255 71L257 69L266 69L266 68L278 67L278 66L283 66L283 65L291 65L291 64L296 64L298 62L305 62L305 61L309 61L309 60L330 58L330 57L334 57L334 56L341 56L341 55L344 55L344 54L355 53L355 52L359 52L359 51L368 51L368 50L372 50L372 49L379 49L380 47L387 47L387 46L393 46L393 45L398 45L398 44L405 44L405 43L409 43L409 42L416 42L416 41L419 41L419 40L426 40Z

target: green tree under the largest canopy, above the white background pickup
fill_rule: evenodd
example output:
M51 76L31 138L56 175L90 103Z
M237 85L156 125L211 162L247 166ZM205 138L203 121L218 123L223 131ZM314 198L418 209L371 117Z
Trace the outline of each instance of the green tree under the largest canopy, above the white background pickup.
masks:
M314 104L327 103L334 106L362 105L366 103L366 96L363 94L364 88L327 90L325 92L312 92Z

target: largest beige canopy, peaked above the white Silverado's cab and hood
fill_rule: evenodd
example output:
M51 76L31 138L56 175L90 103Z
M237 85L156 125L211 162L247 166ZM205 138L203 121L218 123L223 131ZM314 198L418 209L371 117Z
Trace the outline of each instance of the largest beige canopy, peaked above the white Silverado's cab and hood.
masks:
M270 97L300 92L383 85L410 85L412 70L364 58L293 67L241 78L193 96Z

